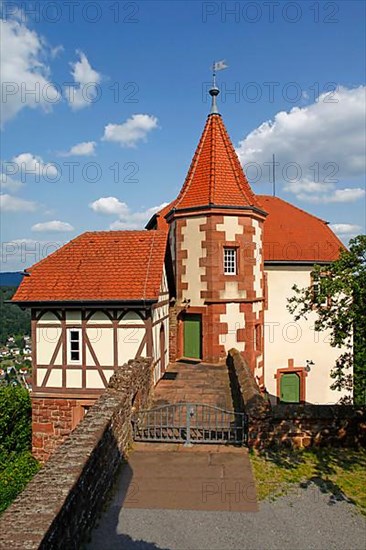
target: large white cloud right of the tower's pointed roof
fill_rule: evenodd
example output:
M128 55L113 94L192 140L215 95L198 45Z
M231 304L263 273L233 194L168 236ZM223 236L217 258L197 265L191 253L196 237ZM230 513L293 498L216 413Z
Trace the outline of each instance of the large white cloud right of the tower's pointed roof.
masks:
M365 86L340 86L253 130L237 149L249 179L257 176L250 164L255 163L262 176L258 182L268 183L275 154L277 181L299 199L325 203L362 197L361 189L337 189L336 184L365 173L365 91Z

